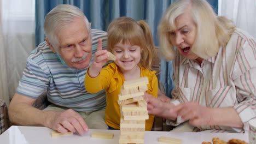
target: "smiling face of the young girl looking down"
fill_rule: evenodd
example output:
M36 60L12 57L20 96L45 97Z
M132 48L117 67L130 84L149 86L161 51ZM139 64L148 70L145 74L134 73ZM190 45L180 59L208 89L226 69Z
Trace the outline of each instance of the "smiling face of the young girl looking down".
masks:
M115 64L118 65L122 72L135 70L141 61L141 47L138 45L119 42L114 45L112 53L117 57Z

